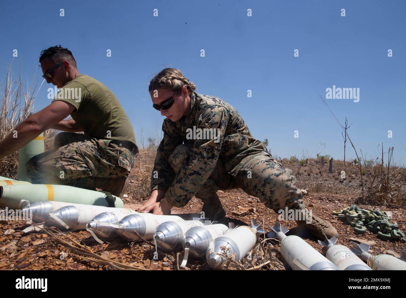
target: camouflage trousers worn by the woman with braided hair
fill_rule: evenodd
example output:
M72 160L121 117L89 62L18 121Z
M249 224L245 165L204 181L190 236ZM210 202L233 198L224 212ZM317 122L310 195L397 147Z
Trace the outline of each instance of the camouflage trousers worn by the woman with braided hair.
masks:
M177 146L169 157L175 173L186 162L191 147ZM280 209L304 209L302 191L296 187L296 178L291 169L268 155L253 155L236 176L228 174L219 158L210 177L196 193L203 202L216 195L218 190L242 189L248 195L257 197L266 207L278 212Z

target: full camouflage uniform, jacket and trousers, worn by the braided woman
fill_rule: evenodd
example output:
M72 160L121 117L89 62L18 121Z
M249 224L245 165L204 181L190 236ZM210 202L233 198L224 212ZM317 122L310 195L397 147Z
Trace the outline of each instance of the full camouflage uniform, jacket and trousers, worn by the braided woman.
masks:
M219 189L243 189L276 212L304 209L302 191L290 169L272 158L261 141L253 138L238 111L221 99L193 92L190 114L162 124L151 189L166 190L176 207L196 195L203 202ZM186 129L218 129L218 139L188 139Z

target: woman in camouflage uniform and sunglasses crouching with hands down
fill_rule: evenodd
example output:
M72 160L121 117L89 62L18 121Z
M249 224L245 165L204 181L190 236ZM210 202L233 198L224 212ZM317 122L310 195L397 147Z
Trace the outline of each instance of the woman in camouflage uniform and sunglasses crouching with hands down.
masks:
M238 111L195 89L173 68L163 69L149 84L153 107L166 119L151 174L151 196L138 212L170 214L173 206L183 207L196 196L203 201L206 218L221 219L226 212L216 192L240 188L275 212L285 207L303 210L304 216L295 220L318 238L324 239L323 233L337 236L330 223L305 211L292 171L283 169L251 135Z

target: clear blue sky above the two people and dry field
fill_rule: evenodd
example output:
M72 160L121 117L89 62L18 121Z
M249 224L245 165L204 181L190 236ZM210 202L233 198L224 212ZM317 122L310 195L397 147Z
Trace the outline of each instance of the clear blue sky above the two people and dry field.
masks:
M31 78L42 49L67 47L80 73L117 96L139 143L141 128L146 140L160 131L164 119L151 107L149 80L171 66L194 82L198 93L233 105L254 137L268 138L273 155L301 157L308 150L315 156L322 142L321 153L335 159L343 159L341 129L318 94L325 98L333 85L360 88L357 103L326 102L341 123L347 117L352 124L348 133L358 154L361 149L375 158L383 142L385 151L395 148L394 160L403 165L405 13L404 1L2 0L0 82L13 49L18 50L13 71L21 66ZM39 85L41 74L39 68ZM50 87L44 84L38 93L37 111L50 103ZM355 157L349 141L346 157Z

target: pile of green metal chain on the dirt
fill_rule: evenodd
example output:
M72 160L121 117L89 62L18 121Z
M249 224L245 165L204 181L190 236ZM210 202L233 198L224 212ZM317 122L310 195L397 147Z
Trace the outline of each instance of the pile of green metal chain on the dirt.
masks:
M371 232L378 232L378 236L382 239L398 239L403 243L406 242L406 236L400 231L397 223L390 223L388 216L379 210L362 209L352 205L339 212L333 211L333 214L340 219L347 219L358 234L363 234L368 229Z

